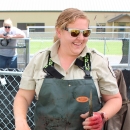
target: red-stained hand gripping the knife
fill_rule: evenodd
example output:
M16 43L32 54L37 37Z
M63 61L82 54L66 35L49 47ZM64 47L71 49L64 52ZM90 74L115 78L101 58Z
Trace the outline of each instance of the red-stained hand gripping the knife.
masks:
M85 119L83 122L83 128L85 130L102 130L104 125L103 113L94 112L93 116L88 117L86 114L81 114L81 117Z

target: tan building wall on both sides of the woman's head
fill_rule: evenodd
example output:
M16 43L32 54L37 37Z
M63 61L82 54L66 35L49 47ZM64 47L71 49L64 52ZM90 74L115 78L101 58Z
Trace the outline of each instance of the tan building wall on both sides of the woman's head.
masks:
M12 19L14 26L17 23L45 23L45 26L55 26L56 19L61 12L0 12L0 20L7 18ZM112 26L113 23L108 23L109 19L112 19L122 12L85 12L90 19L90 26L96 26L100 23L106 23L106 26ZM128 14L128 12L123 12ZM127 22L130 25L130 17L123 17L116 22Z

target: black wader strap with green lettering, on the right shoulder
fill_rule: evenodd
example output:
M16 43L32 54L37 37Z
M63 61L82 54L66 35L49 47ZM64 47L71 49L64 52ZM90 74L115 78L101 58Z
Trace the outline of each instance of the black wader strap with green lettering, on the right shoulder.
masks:
M77 65L80 69L82 69L85 73L84 78L92 78L90 76L91 71L91 62L90 62L90 54L87 53L85 57L83 57L83 61L80 59L76 59L75 65Z

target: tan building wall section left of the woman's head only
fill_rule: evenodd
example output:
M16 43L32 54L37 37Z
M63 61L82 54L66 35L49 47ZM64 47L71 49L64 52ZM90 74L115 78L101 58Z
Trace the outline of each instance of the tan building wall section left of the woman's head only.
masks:
M14 26L17 23L45 23L45 26L54 26L59 12L0 12L0 20L10 18Z

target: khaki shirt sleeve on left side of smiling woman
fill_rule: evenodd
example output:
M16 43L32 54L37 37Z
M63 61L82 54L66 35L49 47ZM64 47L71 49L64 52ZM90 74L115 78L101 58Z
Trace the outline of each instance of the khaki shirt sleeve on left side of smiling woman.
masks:
M48 51L39 51L26 66L19 88L26 90L36 90L41 87L44 78L43 66L47 64ZM39 90L38 90L39 91Z

